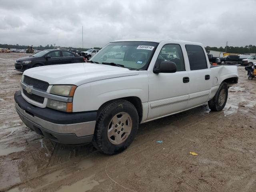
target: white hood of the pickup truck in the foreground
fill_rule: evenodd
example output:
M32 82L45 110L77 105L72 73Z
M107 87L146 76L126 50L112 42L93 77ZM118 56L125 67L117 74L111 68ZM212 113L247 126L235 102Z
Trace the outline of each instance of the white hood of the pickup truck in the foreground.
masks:
M42 66L26 70L24 75L52 84L79 86L88 82L138 75L139 71L93 63L73 63Z

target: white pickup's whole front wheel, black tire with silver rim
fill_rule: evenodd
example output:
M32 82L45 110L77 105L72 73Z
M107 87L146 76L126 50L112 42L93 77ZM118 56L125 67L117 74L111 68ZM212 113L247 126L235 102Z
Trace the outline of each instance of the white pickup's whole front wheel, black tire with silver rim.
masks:
M114 100L100 109L92 143L104 154L120 153L134 140L138 125L135 106L126 100Z

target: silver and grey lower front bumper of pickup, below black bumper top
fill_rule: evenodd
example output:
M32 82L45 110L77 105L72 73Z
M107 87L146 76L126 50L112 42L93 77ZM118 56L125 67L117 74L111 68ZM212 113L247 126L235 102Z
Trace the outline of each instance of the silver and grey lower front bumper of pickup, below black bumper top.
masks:
M16 111L26 126L36 133L62 144L84 144L92 141L96 121L55 124L26 113L16 104Z

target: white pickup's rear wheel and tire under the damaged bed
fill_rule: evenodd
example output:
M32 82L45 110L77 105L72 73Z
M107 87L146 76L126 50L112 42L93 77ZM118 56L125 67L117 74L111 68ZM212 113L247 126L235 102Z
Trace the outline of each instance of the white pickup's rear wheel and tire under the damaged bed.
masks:
M208 101L208 106L212 111L221 111L228 100L228 86L225 82L220 84L215 96Z

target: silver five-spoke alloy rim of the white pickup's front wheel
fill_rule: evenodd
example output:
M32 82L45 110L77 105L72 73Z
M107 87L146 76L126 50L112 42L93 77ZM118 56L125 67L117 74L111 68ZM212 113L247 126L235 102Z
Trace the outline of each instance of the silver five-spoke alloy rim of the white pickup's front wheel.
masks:
M114 145L119 145L128 138L131 131L131 116L126 112L120 112L108 124L108 140Z

